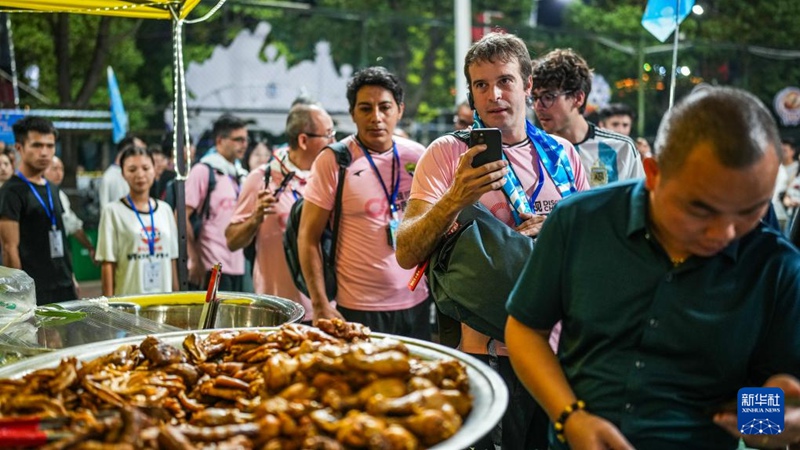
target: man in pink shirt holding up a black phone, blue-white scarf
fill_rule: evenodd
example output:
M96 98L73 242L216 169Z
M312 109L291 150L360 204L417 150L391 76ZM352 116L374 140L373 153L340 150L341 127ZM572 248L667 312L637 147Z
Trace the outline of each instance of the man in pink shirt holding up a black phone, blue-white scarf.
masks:
M402 267L412 268L426 261L458 214L478 201L506 225L536 237L565 191L563 184L557 185L559 179L544 170L537 147L552 145L565 154L574 174L572 179L561 180L568 183L568 192L589 189L572 144L546 135L525 118L532 79L530 54L522 40L510 34L484 36L467 52L464 73L478 113L476 122L502 131L505 159L473 168L473 157L484 151L485 145L468 148L453 135L431 143L417 166L406 215L398 230L397 260ZM510 170L519 179L533 211L519 214L520 225L515 225L509 201L500 190ZM497 307L503 308L503 303ZM510 404L497 443L505 450L547 448L547 416L514 374L505 345L490 342L488 336L462 324L460 349L491 363L509 388ZM493 442L485 438L475 448L493 448Z

